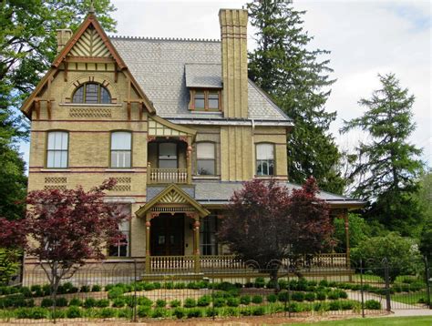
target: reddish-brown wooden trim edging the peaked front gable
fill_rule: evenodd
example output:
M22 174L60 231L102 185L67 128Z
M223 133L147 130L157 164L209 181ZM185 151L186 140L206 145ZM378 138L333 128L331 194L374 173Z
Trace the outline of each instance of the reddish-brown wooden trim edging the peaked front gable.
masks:
M80 42L81 37L87 37L86 31L88 28L93 28L95 30L94 35L98 36L102 40L102 43L103 43L103 45L101 44L98 47L98 49L96 49L96 51L94 53L92 53L92 55L94 55L96 57L100 57L100 56L105 57L109 54L112 57L112 59L116 62L118 68L121 69L123 71L123 73L125 73L129 77L132 86L135 88L135 90L139 94L139 97L142 98L142 100L144 102L144 106L148 109L149 113L154 114L156 112L156 110L153 107L153 104L151 103L151 101L149 100L149 97L147 97L147 95L141 89L141 87L139 86L139 83L135 80L135 77L132 76L132 74L130 74L128 66L126 66L126 64L123 61L123 59L121 58L121 56L118 55L118 52L117 52L115 46L113 46L113 44L111 43L107 34L105 33L104 29L99 24L96 15L94 15L92 13L87 15L87 17L84 19L83 23L78 26L77 31L74 33L74 35L72 37L70 37L70 39L67 41L67 44L65 45L65 47L63 47L63 49L60 51L60 53L56 56L56 58L54 59L52 65L51 65L51 68L46 73L46 76L44 76L40 80L40 82L37 84L37 86L36 86L35 90L32 92L32 94L29 97L27 97L26 101L24 102L23 106L21 107L21 111L23 111L27 117L31 118L30 112L31 112L31 107L34 103L35 97L44 87L46 87L46 83L48 82L48 80L56 74L60 64L64 60L66 60L67 56L71 53L76 55L76 56L77 55L80 56L83 54L83 51L79 51L79 48L74 51L74 46L79 47L79 42ZM105 47L102 48L102 46L105 46Z

